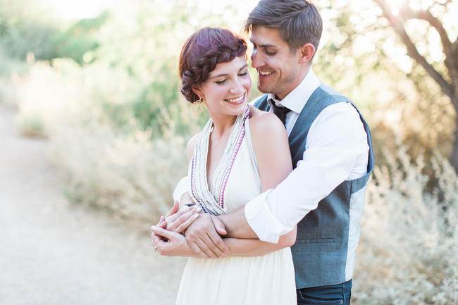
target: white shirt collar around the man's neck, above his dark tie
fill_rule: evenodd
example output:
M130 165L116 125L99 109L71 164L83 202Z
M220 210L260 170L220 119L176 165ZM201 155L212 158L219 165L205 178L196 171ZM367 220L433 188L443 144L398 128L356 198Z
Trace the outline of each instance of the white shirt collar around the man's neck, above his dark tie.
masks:
M304 108L305 104L309 100L310 96L316 88L320 87L321 81L318 80L316 77L314 70L310 67L309 72L305 75L304 80L295 87L287 96L278 101L276 99L275 94L268 94L267 99L273 99L277 106L282 105L290 110L294 111L295 113L300 113L302 108Z

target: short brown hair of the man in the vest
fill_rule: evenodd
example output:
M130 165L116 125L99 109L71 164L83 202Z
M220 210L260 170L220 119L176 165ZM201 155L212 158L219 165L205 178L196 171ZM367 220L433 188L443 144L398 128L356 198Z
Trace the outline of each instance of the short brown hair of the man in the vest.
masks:
M245 31L254 25L278 28L292 51L307 43L318 49L323 31L321 15L309 0L261 0L249 13Z

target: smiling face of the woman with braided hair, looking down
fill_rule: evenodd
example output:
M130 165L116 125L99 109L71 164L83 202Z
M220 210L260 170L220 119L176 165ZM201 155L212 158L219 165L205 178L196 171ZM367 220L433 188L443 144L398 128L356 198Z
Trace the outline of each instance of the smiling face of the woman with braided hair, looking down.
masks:
M199 89L199 97L209 110L213 120L216 116L238 116L247 109L252 79L249 77L247 60L239 56L228 63L218 63Z

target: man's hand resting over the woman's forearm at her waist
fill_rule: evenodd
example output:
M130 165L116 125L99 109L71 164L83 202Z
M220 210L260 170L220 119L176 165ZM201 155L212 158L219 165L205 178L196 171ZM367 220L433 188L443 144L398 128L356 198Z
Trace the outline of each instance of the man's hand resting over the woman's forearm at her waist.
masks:
M220 235L226 235L223 223L216 216L201 213L185 231L187 244L194 252L216 259L225 257L229 248Z

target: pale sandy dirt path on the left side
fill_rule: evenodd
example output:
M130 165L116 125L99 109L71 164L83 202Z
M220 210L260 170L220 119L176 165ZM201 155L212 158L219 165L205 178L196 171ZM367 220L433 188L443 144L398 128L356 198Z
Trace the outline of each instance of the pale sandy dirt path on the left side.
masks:
M173 304L185 261L69 204L47 141L20 137L14 116L0 105L0 304Z

